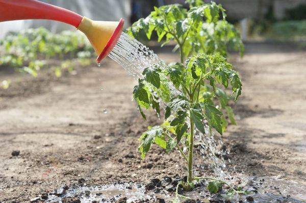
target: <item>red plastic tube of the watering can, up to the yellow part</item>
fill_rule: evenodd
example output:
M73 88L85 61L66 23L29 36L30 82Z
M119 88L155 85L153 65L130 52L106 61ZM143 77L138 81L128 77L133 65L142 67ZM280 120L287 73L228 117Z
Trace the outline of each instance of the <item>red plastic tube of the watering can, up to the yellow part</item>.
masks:
M0 22L25 19L56 20L78 27L83 16L36 0L0 0Z

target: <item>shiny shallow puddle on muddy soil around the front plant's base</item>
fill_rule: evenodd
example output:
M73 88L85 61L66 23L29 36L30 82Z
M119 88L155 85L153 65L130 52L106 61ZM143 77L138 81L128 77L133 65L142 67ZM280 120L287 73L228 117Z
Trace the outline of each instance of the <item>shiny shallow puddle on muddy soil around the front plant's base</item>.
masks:
M248 185L241 185L244 189L248 189L250 196L254 198L255 203L278 203L278 202L292 202L292 203L304 203L306 202L306 185L301 185L294 181L287 181L283 179L277 179L276 177L265 178L243 178L242 182ZM197 202L209 202L209 199L228 199L231 202L238 202L242 200L246 202L247 195L234 195L226 196L226 190L223 190L221 194L211 195L206 190L207 182L203 187L198 187L192 192L185 193L184 195L191 199L198 199ZM90 191L90 193L88 192ZM87 195L86 195L87 193ZM123 183L123 184L111 184L99 187L79 186L73 187L67 190L66 194L62 197L56 195L49 195L49 199L46 202L62 202L62 199L67 196L77 196L81 202L114 202L122 197L127 197L128 203L139 200L155 198L163 198L165 202L171 202L174 197L174 192L167 192L161 189L160 193L154 193L153 190L146 191L143 184L135 183ZM219 201L213 201L219 202ZM220 201L222 202L222 201Z

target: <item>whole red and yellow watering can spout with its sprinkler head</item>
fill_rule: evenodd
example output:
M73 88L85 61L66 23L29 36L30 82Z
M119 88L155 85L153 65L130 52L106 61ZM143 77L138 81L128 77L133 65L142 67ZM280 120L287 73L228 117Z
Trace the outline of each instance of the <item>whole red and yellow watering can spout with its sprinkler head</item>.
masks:
M119 22L94 21L67 9L36 0L0 0L0 22L25 19L56 20L77 27L92 44L98 55L98 63L116 45L124 24L122 18Z

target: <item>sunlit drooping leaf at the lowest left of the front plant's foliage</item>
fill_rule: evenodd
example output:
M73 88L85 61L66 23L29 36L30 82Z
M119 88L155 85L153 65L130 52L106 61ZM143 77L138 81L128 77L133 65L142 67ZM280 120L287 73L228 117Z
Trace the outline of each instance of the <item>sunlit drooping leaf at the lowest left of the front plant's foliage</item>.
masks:
M163 135L163 129L160 126L154 126L147 130L140 137L141 144L139 146L139 152L141 157L144 158L145 154L150 150L151 144L155 142L156 137L161 137Z

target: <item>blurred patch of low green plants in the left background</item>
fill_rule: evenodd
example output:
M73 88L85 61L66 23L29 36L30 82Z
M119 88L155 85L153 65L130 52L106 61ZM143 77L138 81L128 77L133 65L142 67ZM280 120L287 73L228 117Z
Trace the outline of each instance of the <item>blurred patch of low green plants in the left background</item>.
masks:
M13 67L34 77L37 77L40 69L48 67L49 59L65 60L57 68L52 68L55 75L60 77L62 70L67 69L71 73L78 62L81 66L90 64L92 53L92 46L86 37L74 31L54 34L40 27L21 33L10 32L0 40L0 65ZM77 61L74 60L76 57Z

